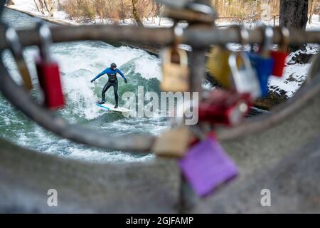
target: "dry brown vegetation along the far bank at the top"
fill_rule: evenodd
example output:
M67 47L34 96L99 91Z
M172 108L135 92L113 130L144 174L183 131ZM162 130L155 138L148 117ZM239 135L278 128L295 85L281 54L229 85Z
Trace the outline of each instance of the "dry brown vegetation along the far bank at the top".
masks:
M8 1L14 4L15 0ZM18 1L18 0L16 0ZM65 11L70 19L85 21L125 22L133 19L139 26L144 21L161 25L161 11L164 6L155 0L33 0L41 14L53 16L54 11ZM223 21L260 21L261 15L279 19L281 0L211 0L210 3ZM320 0L310 0L308 6L309 23L311 15L320 13Z

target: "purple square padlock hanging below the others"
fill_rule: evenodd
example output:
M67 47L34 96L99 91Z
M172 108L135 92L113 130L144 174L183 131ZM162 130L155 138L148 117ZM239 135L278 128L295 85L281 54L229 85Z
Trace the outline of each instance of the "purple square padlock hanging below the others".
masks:
M179 165L193 190L201 197L238 175L238 167L211 137L191 147L179 160Z

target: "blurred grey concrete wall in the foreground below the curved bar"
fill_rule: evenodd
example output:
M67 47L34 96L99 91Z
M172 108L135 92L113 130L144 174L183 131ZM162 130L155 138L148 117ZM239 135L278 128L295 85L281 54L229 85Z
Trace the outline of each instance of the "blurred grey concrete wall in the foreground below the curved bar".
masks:
M223 141L238 180L198 199L176 160L95 164L0 140L1 212L320 212L320 93L273 128ZM182 186L182 190L181 190ZM46 192L58 190L58 207ZM260 191L272 191L272 207Z

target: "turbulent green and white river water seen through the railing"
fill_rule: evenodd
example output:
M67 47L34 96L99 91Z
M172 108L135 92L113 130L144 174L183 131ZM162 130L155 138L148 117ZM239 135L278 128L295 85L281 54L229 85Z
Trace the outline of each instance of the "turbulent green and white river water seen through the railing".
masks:
M4 11L3 17L15 28L27 28L35 24L35 19L32 17L10 9ZM107 77L102 76L95 83L90 83L93 76L104 70L110 63L115 62L128 80L128 83L125 84L122 78L119 78L119 98L125 91L137 93L138 86L144 86L145 90L160 93L159 58L139 49L127 46L114 47L101 41L58 43L52 46L51 51L53 58L60 64L63 90L66 96L67 106L58 112L63 118L71 123L103 131L105 137L108 135L122 136L122 140L126 140L125 135L129 133L159 135L167 128L166 118L124 118L117 113L107 113L97 108L95 101L101 99L101 90ZM26 58L36 87L32 93L35 98L40 98L34 66L34 57L37 54L38 48L30 47L26 48L23 56ZM2 58L14 80L19 82L20 77L11 53L6 51ZM112 88L107 91L106 98L110 103L114 103ZM120 102L121 104L123 105ZM101 150L59 138L28 120L1 95L0 137L33 150L95 162L144 161L152 157L152 155L132 155L120 151Z

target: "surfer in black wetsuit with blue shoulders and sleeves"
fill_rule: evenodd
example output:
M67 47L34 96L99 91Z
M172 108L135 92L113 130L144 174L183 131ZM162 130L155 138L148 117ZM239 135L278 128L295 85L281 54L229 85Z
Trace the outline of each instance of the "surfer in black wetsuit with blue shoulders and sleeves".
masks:
M107 73L107 76L108 76L109 80L105 84L105 87L103 87L103 89L102 89L102 100L100 102L98 102L98 104L101 105L101 104L105 103L105 92L107 92L107 90L110 88L110 86L113 86L114 99L115 99L115 102L116 102L116 105L114 106L114 108L118 108L118 79L117 79L117 73L119 73L120 76L122 76L122 78L124 79L125 83L127 83L127 79L126 79L126 77L124 77L123 73L119 69L117 69L117 65L115 63L111 63L110 68L107 68L107 69L105 69L105 71L102 71L101 73L99 73L90 82L93 83L95 80L97 80L97 78L100 78L105 73Z

